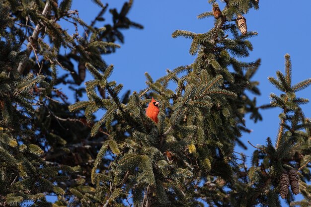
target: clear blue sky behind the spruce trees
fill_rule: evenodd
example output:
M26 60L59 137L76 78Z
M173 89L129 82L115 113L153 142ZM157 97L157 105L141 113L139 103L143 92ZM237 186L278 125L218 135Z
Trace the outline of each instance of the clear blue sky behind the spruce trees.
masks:
M102 0L110 8L121 9L124 0ZM298 3L299 2L299 3ZM260 0L259 10L250 10L245 16L248 30L257 31L258 36L249 39L254 47L248 59L262 59L262 65L254 76L260 81L262 95L257 98L258 104L269 103L269 94L275 92L268 82L268 76L275 76L277 70L284 71L284 55L289 53L293 64L293 83L311 77L310 58L310 22L311 1ZM89 23L99 8L90 0L74 0L73 9L78 9L79 16ZM148 71L154 79L165 74L166 69L191 64L195 57L188 51L191 40L171 38L176 29L203 33L213 27L213 19L198 20L197 14L210 11L207 0L134 0L130 11L131 20L144 25L145 29L125 30L125 44L115 54L104 56L108 64L114 64L115 70L111 79L124 84L127 89L140 90L146 87L144 72ZM105 18L110 21L111 15ZM91 78L87 74L88 78ZM298 95L311 99L311 88ZM303 106L307 117L311 117L311 105ZM279 109L262 111L263 121L253 124L247 121L247 127L253 132L242 138L246 143L264 144L267 137L275 140L278 130ZM253 148L237 151L251 155Z

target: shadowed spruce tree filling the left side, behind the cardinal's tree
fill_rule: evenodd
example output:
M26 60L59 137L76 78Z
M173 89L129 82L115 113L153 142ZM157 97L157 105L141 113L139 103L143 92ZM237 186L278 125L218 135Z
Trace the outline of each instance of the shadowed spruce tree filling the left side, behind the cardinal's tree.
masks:
M124 42L121 29L143 28L127 17L132 0L119 11L93 2L100 11L87 24L72 0L0 0L0 206L51 207L46 195L60 195L54 206L75 206L68 188L89 188L103 141L88 139L90 124L69 112L61 88L80 100L85 63L104 71L102 55ZM112 24L105 24L109 15Z

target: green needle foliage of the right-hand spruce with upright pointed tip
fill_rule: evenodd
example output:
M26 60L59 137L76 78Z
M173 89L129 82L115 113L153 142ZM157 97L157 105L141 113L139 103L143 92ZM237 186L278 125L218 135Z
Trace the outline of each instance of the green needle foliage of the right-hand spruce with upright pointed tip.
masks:
M311 78L292 84L292 66L290 56L285 55L285 74L277 71L277 78L269 77L270 82L282 93L278 96L271 94L271 105L282 109L279 115L280 125L275 139L267 138L265 145L257 145L253 152L252 166L245 168L245 160L240 165L242 171L236 174L237 189L231 195L233 206L253 206L261 204L267 207L281 207L278 194L282 192L284 183L282 174L294 170L299 176L299 189L304 197L310 198L309 162L310 154L310 121L306 119L301 105L309 102L299 98L296 92L311 84ZM245 159L245 157L244 157ZM241 182L242 181L242 182ZM298 183L297 183L298 185ZM293 191L293 184L291 189ZM308 189L309 188L309 189ZM307 200L293 202L294 196L286 188L286 202L291 206L310 206ZM294 192L294 191L293 191ZM306 205L306 202L308 205Z

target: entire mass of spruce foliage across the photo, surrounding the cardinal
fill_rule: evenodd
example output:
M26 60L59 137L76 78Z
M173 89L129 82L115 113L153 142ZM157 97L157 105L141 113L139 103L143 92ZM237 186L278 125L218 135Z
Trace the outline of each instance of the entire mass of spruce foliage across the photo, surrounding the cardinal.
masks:
M143 27L127 17L133 0L120 9L92 1L99 13L86 23L72 0L0 0L0 207L311 206L311 120L296 96L311 79L293 84L286 55L285 73L269 77L281 94L257 106L260 59L241 61L258 0L209 0L198 18L215 18L213 28L172 34L192 40L195 61L157 80L146 73L146 88L122 98L103 58L124 43L122 29ZM157 122L146 116L152 97ZM260 121L269 107L282 110L277 136L253 145L247 167L234 151L246 149L245 116Z

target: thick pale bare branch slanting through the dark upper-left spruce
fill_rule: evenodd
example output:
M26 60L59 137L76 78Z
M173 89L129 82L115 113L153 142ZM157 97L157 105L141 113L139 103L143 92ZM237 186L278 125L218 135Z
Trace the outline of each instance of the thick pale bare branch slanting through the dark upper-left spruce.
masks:
M44 6L44 9L42 11L42 16L46 16L48 11L49 11L49 8L50 8L50 1L47 0L46 3L45 3L45 6ZM31 54L31 49L32 49L32 45L35 41L38 40L38 37L39 37L39 33L40 33L40 30L42 28L42 25L40 23L38 23L35 27L35 29L33 30L33 33L31 35L31 37L29 37L29 42L27 44L27 48L26 48L26 52L27 52L27 56L26 56L26 59L22 62L19 63L18 65L18 72L19 74L22 74L24 69L26 68L27 66L27 63L28 63L28 58Z

